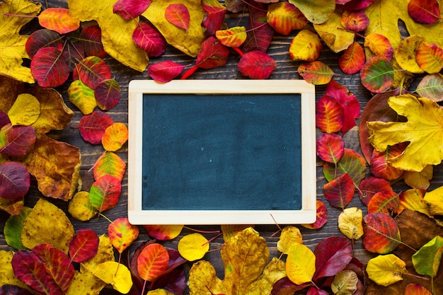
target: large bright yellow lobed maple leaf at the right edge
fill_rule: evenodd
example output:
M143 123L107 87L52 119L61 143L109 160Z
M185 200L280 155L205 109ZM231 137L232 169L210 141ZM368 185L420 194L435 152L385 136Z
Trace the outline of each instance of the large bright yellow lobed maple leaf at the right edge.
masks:
M403 154L389 159L392 166L421 171L427 165L437 165L443 159L443 110L435 101L410 94L392 96L389 106L407 122L367 122L369 142L377 151L408 142Z

